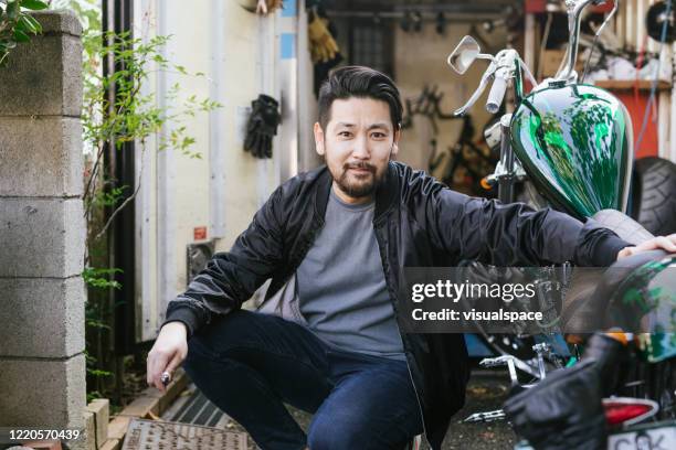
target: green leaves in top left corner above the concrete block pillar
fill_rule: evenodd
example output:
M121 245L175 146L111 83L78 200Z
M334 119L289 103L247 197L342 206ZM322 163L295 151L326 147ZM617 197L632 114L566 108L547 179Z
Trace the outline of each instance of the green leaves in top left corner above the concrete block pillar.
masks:
M42 25L28 11L49 8L41 0L0 1L0 66L7 64L10 51L18 43L31 40L30 34L42 33Z

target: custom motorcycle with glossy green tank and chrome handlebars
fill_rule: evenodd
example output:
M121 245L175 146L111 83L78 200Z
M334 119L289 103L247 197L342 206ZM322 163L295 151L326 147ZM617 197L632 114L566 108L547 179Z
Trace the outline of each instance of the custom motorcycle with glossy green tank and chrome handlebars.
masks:
M526 185L524 192L529 197L526 200L536 207L547 204L582 221L592 218L626 242L640 244L652 235L623 214L627 211L633 167L631 117L611 93L578 83L574 71L581 13L587 7L603 2L566 0L569 15L566 64L556 76L541 83L535 79L514 49L501 50L496 55L484 54L472 36L460 42L447 63L462 75L475 61L489 61L476 92L455 111L458 116L467 113L490 83L486 110L495 114L508 87L513 87L514 113L505 114L490 130L499 136L500 159L486 182L497 186L498 200L516 201L516 188ZM617 1L596 34L616 10ZM526 92L526 81L531 86L529 92ZM612 429L609 448L630 441L632 444L654 442L655 439L661 439L663 448L676 448L676 338L670 332L673 324L661 322L665 317L670 318L672 312L676 313L676 286L672 281L676 277L669 279L666 275L674 268L676 255L648 253L616 262L601 278L592 277L578 283L570 280L575 288L562 290L562 293L566 291L561 302L562 321L573 329L582 324L582 329L587 326L588 330L590 324L584 321L589 322L590 311L602 312L594 325L603 329L611 323L608 318L632 296L641 306L633 318L612 318L613 324L625 320L631 328L624 330L634 334L625 333L633 352L622 363L624 379L617 379L613 386L603 386L612 396L600 401L603 409L595 411L599 416L605 410L605 421ZM563 280L562 285L568 281ZM664 292L670 292L672 297L665 300ZM669 312L665 314L663 310L655 320L653 312L657 308L666 308ZM528 357L511 354L509 346L495 347L499 356L484 360L483 365L507 366L515 390L537 389L547 377L564 381L567 375L560 374L582 371L585 365L584 357L580 362L580 336L570 334L567 338L570 353L564 357L552 352L551 336L546 336L532 346ZM520 383L517 371L528 374L531 383ZM500 410L488 411L473 415L467 421L504 417ZM657 419L667 421L655 422ZM520 448L527 448L524 446Z

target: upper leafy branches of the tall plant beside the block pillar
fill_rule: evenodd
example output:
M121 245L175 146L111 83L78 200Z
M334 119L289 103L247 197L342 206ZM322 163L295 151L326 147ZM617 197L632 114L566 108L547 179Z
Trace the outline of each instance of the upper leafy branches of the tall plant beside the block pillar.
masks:
M105 235L117 214L136 197L140 186L139 173L137 188L129 196L125 195L128 186L105 189L114 184L114 180L101 173L107 146L122 151L126 142L137 142L144 152L148 139L157 137L157 149L160 151L173 149L189 158L201 158L199 152L192 151L196 140L188 135L183 122L187 118L221 105L190 96L182 101L180 110L172 110L157 106L155 93L142 88L154 72L172 71L182 75L204 76L201 73L190 74L183 66L172 65L163 57L162 47L170 38L159 35L146 41L131 38L128 32L84 33L85 104L82 117L84 140L94 156L85 183L85 216L89 216L97 206L114 207L103 227L93 231L92 240ZM106 58L112 58L118 68L113 74L103 74L101 71ZM176 99L179 92L179 85L175 84L169 88L167 97ZM171 126L170 131L160 133L168 126ZM142 173L142 165L139 172Z

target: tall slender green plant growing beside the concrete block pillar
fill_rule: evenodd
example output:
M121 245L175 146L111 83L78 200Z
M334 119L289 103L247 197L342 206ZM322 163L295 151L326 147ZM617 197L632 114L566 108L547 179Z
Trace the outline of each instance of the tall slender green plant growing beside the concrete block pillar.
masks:
M119 364L119 356L112 352L117 307L112 292L120 288L115 279L120 270L110 267L107 232L115 217L134 202L145 174L140 167L136 188L120 185L105 167L104 156L106 152L130 151L125 143L135 142L135 151L172 149L188 158L200 158L200 153L193 150L196 139L189 135L184 122L220 105L189 96L181 100L180 108L160 106L155 92L144 88L152 74L161 71L186 76L204 74L190 74L186 67L162 56L162 47L170 36L144 40L130 33L102 32L98 4L97 0L55 0L52 6L74 10L83 24L82 124L87 219L83 277L88 288L85 308L87 392L89 396L107 395L109 383L115 381L117 392L113 400L119 403L124 364ZM117 71L105 73L104 64L115 66ZM168 97L177 98L179 94L180 86L175 85ZM167 132L160 132L162 130ZM151 137L156 138L157 146L147 146Z

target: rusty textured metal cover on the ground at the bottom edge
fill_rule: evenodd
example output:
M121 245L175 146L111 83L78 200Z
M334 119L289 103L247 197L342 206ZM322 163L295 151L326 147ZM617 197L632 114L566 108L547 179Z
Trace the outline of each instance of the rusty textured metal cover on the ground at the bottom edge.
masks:
M246 450L246 435L160 420L133 419L123 450Z

